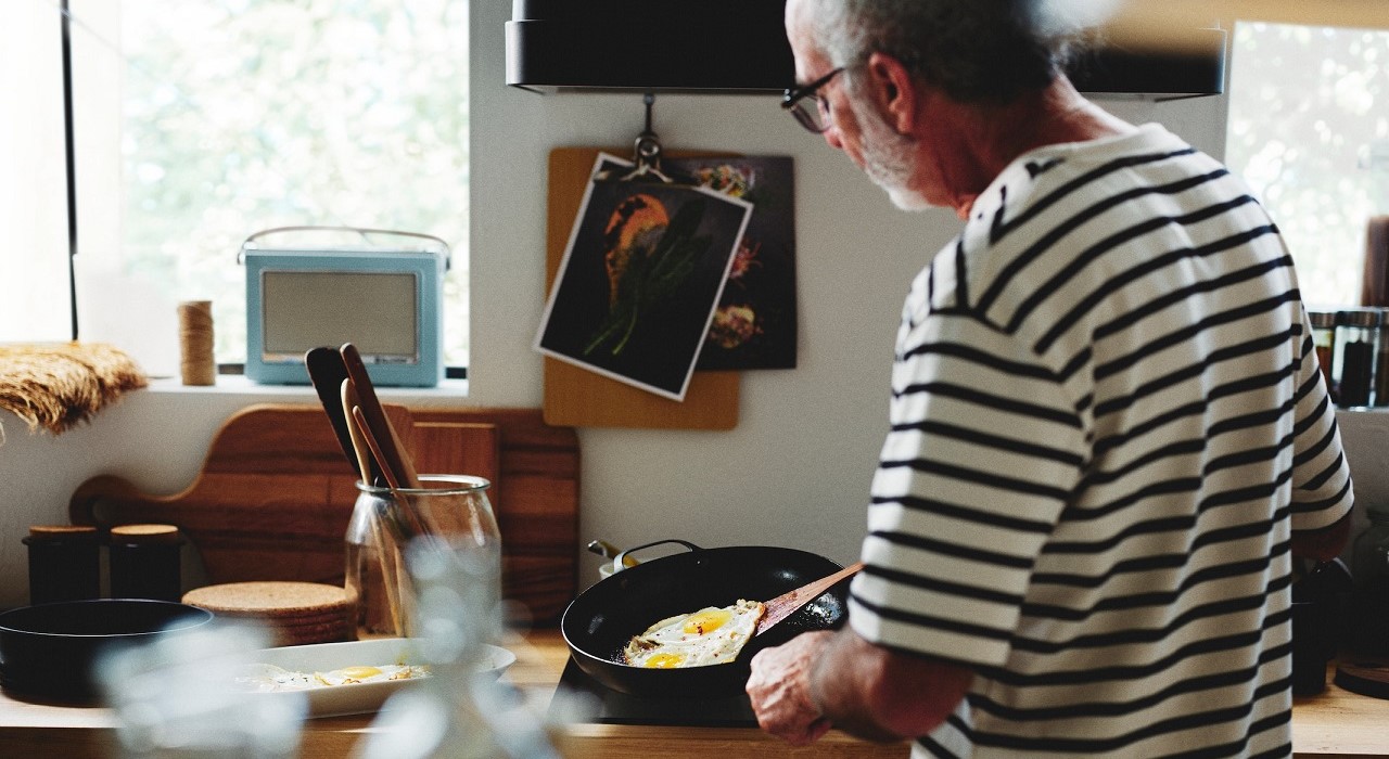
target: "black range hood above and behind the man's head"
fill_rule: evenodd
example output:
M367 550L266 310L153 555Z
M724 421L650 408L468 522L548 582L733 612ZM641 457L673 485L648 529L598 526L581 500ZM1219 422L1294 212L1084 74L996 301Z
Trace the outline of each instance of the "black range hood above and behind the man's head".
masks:
M796 78L785 0L513 0L507 85L551 92L781 93ZM1225 87L1225 32L1182 53L1099 50L1082 92L1154 97Z

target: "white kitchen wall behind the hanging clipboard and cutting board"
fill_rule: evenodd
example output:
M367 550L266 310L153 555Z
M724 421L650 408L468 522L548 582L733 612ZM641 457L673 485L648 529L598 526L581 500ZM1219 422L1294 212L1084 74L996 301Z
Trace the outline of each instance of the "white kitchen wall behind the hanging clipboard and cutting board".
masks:
M561 146L626 148L643 125L638 94L539 96L508 89L508 3L472 3L472 366L465 400L421 402L538 407L531 350L544 282L546 155ZM731 432L581 430L581 536L636 544L681 537L703 545L775 544L851 561L886 429L888 375L910 278L958 229L946 211L903 214L771 96L658 96L654 129L668 148L783 154L796 160L800 365L747 372ZM1224 153L1224 99L1107 103L1129 121L1163 121ZM0 297L10 286L0 284ZM388 400L408 394L383 391ZM136 393L92 425L29 436L0 415L0 608L26 599L19 538L65 520L74 488L117 473L150 493L176 493L236 408L317 402L308 390ZM575 547L579 551L579 547ZM583 580L596 558L583 554Z

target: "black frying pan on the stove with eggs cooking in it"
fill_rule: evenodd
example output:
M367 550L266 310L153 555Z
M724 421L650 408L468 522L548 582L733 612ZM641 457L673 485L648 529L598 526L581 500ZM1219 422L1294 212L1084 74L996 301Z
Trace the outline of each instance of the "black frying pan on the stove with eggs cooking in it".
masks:
M690 552L614 572L581 592L560 620L560 631L574 662L613 690L633 695L696 698L742 692L753 654L781 645L800 633L829 630L845 622L849 580L749 641L732 663L685 669L626 665L622 662L626 642L661 619L704 606L728 606L739 598L771 601L842 569L807 551L763 545L700 548L683 540L663 540L625 554L667 543L685 545Z

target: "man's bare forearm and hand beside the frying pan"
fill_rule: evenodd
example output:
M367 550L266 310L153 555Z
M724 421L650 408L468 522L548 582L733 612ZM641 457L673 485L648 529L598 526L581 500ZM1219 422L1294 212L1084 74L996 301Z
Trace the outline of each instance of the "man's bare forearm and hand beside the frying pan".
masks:
M968 667L882 648L845 627L757 654L747 694L763 728L795 745L831 727L900 741L945 722L972 681Z

